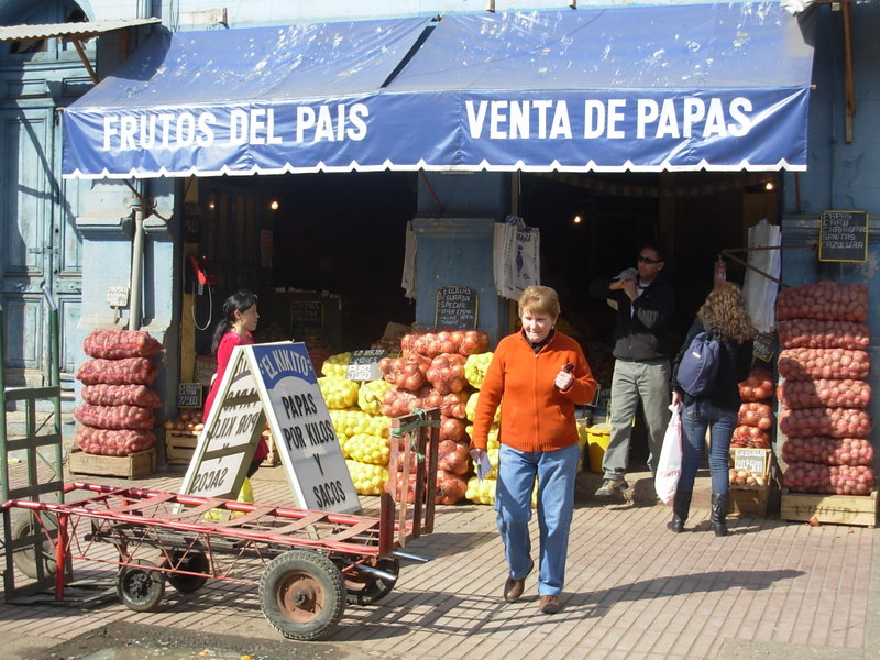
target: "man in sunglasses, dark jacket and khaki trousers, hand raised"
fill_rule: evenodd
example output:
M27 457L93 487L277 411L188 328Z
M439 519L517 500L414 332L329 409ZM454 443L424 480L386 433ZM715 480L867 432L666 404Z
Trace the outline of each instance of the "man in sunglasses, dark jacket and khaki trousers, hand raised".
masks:
M669 425L670 323L675 311L675 292L663 276L666 253L659 245L644 245L636 268L590 285L591 295L609 298L617 307L614 327L614 375L612 376L612 437L602 460L604 481L596 496L626 491L632 418L639 402L648 428L648 468L657 460Z

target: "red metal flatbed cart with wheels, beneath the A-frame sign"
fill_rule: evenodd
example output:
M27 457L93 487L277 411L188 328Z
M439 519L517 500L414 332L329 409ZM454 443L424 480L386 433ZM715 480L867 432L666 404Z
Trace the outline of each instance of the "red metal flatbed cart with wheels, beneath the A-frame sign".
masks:
M435 492L437 452L427 446L436 448L438 433L430 422L422 425L429 433L406 432L395 443L392 493L397 479L407 483L410 458L418 465L416 492ZM68 576L57 566L73 561L118 565L117 593L138 612L158 605L166 582L184 593L209 579L258 585L263 615L298 640L326 638L346 604L369 605L391 593L399 560L419 560L402 548L433 528L433 497L425 504L416 498L409 517L405 498L396 507L388 493L380 498L377 517L81 482L66 485L65 493L63 504L0 505L3 512L31 512L19 529L42 537L45 551L54 552L54 561L43 558L44 565L31 569L54 573L57 600L64 598ZM36 556L23 559L16 564L28 572L24 564Z

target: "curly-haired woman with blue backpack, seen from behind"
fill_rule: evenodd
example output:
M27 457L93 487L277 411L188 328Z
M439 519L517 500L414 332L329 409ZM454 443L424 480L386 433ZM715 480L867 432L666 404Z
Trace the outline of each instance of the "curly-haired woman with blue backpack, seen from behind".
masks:
M691 349L691 342L701 332L705 332L710 339L718 340L717 364L713 366L717 371L708 387L703 383L698 387L703 392L689 394L688 389L693 393L698 391L691 386L698 378L685 372L691 371L688 362L695 354ZM694 480L703 460L708 429L712 527L715 536L727 536L730 439L743 403L739 398L739 383L748 378L751 369L752 340L756 334L757 331L746 310L743 292L730 282L722 282L710 293L696 312L696 319L673 362L672 405L683 404L681 476L672 502L672 520L668 525L669 529L676 534L684 529L684 521L688 519Z

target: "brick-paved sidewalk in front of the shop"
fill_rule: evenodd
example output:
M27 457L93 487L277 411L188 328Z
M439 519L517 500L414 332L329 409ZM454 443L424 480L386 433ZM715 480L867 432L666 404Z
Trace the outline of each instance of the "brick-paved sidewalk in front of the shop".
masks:
M289 503L280 470L257 473L257 502ZM172 491L179 483L180 475L136 482ZM696 508L688 522L695 530L673 535L668 507L581 495L559 614L538 612L535 574L520 602L501 598L494 512L463 504L439 507L435 534L408 546L431 561L405 563L388 596L349 606L332 638L315 644L389 659L878 657L875 529L730 519L732 535L716 538L708 513ZM112 569L89 575L110 579ZM153 613L116 598L88 608L0 605L4 640L40 636L47 647L110 622L279 639L255 588L217 581L195 594L168 590Z

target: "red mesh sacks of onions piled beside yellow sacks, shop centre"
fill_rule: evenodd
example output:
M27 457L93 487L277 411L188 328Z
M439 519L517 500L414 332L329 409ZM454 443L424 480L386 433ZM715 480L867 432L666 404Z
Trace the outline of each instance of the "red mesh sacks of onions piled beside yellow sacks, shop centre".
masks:
M482 330L417 330L402 338L400 358L380 362L383 377L394 384L383 399L385 417L409 415L414 408L440 409L437 504L455 504L468 490L465 475L472 464L470 438L464 430L465 406L473 388L464 377L464 363L469 355L484 353L487 348L488 334ZM414 482L415 473L410 472L408 502L415 498ZM391 486L385 487L389 492ZM403 490L399 482L398 490ZM396 496L402 498L403 493Z

